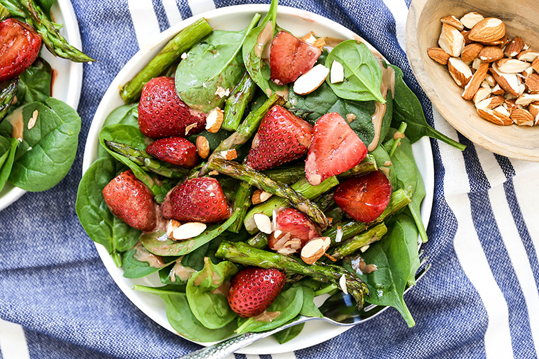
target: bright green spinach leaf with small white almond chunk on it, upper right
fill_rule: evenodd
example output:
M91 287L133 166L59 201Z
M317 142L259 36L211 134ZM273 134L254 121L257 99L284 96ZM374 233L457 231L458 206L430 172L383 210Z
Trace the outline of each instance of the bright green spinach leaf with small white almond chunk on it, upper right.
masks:
M326 80L337 96L356 101L377 100L381 104L386 99L380 93L381 68L375 55L364 43L346 40L335 46L325 59L325 67L332 67L338 61L344 68L344 81L332 84Z

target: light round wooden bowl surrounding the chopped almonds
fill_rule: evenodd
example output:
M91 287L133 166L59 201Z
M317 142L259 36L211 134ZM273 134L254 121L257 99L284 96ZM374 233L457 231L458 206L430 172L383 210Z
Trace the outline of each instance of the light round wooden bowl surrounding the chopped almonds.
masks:
M539 6L535 0L413 0L406 23L406 54L417 81L442 116L462 135L489 151L507 157L539 162L538 126L498 126L477 115L473 101L462 98L446 66L433 61L427 48L439 47L446 15L458 19L475 11L484 17L498 17L506 26L509 39L520 36L539 50Z

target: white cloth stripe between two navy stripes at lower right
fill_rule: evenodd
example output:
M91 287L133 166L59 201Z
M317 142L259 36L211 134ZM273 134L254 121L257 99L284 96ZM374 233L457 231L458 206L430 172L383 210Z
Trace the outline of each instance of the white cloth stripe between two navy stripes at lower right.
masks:
M502 240L507 248L507 253L509 253L509 258L511 258L511 265L515 269L520 288L524 294L531 327L531 338L533 338L536 352L539 352L539 293L529 258L524 244L520 240L520 234L507 203L504 187L500 185L492 188L489 190L489 197Z

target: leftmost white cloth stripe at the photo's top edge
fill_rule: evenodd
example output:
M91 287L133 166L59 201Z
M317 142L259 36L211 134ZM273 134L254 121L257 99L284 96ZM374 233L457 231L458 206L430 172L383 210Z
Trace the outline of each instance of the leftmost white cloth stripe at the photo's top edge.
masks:
M127 0L138 47L143 48L155 41L160 34L159 23L151 0Z

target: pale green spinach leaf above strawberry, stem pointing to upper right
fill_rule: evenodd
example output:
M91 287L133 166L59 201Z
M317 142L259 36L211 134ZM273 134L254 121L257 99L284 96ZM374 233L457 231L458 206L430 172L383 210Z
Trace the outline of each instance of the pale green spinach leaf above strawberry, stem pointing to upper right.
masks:
M255 14L241 31L214 30L187 52L176 69L176 91L188 106L205 113L223 107L226 97L216 93L218 88L231 92L243 77L240 50L258 19Z

